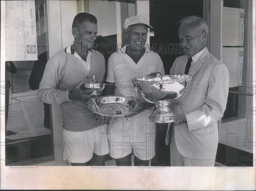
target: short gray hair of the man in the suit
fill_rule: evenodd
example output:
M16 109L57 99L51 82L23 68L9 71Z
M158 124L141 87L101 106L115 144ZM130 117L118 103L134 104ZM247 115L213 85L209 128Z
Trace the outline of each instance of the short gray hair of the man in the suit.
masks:
M200 32L206 32L208 34L208 26L205 20L199 16L188 16L180 20L180 24L191 24L194 28L200 30Z

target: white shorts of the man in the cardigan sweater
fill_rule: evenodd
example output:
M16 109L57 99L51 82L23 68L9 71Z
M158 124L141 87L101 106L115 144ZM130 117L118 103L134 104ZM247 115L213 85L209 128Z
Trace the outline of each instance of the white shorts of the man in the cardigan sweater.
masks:
M87 131L67 131L63 129L63 160L84 163L92 158L92 153L109 153L108 124Z

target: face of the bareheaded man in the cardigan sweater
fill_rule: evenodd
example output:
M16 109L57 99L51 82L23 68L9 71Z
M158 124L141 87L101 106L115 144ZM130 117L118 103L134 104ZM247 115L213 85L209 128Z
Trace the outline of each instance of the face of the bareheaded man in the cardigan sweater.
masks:
M89 21L84 21L79 28L72 28L72 35L76 42L76 46L80 47L79 41L83 42L83 52L91 48L94 40L97 38L98 26Z

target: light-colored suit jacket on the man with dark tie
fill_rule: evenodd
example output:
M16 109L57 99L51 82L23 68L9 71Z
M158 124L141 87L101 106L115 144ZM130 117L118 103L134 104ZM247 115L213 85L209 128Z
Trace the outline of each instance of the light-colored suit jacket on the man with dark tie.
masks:
M184 74L187 60L187 55L178 57L170 75ZM187 123L174 127L177 149L188 158L213 159L218 147L217 121L227 104L229 72L206 48L188 74L192 80L187 93L171 105L176 115L187 118ZM170 129L167 130L167 144L169 139Z

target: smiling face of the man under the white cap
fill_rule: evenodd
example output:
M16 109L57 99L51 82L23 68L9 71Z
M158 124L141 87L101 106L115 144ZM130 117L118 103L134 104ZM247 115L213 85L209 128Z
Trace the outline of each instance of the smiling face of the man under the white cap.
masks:
M144 24L131 25L124 30L124 35L128 39L132 50L141 51L147 40L147 26Z

